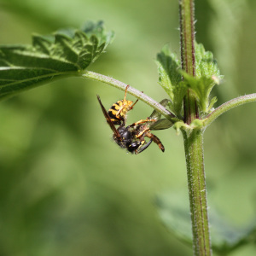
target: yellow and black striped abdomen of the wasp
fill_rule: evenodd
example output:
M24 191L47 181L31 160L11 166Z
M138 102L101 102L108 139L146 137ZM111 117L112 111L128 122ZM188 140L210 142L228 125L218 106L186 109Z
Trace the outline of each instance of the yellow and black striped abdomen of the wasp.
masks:
M118 101L113 103L108 110L108 115L113 125L125 125L126 113L130 110L132 101Z

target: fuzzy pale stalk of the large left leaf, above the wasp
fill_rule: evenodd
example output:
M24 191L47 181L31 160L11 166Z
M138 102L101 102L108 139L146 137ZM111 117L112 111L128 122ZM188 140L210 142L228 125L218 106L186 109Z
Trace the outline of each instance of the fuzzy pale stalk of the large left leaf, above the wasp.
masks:
M91 71L83 72L82 77L85 78L85 79L92 79L92 80L103 82L105 84L110 84L113 87L116 87L120 90L125 90L126 86L127 86L127 84L125 84L123 82L120 82L119 80L110 78L108 76L104 76L100 73L94 73L94 72L91 72ZM143 93L143 91L137 90L137 89L132 88L131 86L129 86L127 92L130 93L132 96L136 96L142 102L147 103L148 106L156 109L163 116L165 116L166 119L171 119L172 120L172 118L175 118L175 115L173 113L171 113L169 110L164 108L159 102L155 102L152 98L145 95Z

